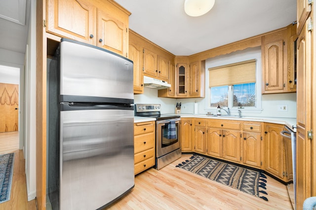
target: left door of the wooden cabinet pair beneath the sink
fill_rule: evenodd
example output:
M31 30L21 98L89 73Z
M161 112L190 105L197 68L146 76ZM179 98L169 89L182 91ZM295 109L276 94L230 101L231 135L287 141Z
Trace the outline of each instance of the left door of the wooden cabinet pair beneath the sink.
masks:
M207 128L207 154L222 157L223 154L222 130Z

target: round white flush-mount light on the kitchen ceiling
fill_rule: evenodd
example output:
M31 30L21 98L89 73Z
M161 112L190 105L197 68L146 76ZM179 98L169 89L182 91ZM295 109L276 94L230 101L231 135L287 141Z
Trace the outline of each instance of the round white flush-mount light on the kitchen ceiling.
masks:
M206 14L214 6L215 0L185 0L184 11L193 17Z

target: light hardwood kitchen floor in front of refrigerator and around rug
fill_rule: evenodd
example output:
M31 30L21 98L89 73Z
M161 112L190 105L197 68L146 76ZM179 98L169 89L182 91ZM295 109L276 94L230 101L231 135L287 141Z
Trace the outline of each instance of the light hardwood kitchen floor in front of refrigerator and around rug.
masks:
M149 169L135 177L135 187L109 210L292 210L286 186L267 176L269 201L187 172L175 166Z

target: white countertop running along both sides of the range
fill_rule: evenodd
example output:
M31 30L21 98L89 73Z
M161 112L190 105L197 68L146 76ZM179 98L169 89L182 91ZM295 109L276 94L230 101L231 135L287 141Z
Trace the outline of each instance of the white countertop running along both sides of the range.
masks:
M168 114L164 114L168 115ZM173 113L170 115L174 115ZM220 120L240 120L240 121L258 121L258 122L270 122L276 124L283 124L290 128L292 131L296 132L296 118L272 118L272 117L241 117L238 116L226 116L223 115L221 117L217 115L203 115L203 114L180 114L181 118L204 118L204 119L220 119ZM146 117L134 117L134 122L146 122L146 121L153 121L156 118L146 118Z

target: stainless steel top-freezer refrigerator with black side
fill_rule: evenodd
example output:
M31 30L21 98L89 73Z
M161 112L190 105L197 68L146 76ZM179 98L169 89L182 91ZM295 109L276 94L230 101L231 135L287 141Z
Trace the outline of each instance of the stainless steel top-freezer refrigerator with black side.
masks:
M133 62L62 39L48 77L51 205L104 208L134 187Z

